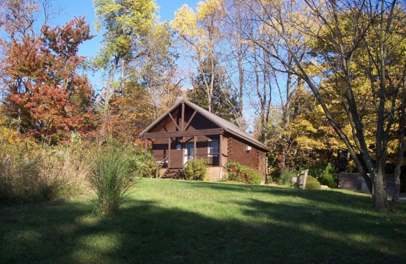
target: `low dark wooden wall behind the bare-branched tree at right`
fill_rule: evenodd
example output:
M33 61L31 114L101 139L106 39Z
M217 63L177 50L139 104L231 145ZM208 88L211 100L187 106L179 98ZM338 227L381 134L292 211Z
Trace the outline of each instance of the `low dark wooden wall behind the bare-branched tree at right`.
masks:
M339 174L339 188L360 191L361 183L365 182L359 173L340 173ZM385 177L386 192L393 193L394 191L394 176L393 174L387 174Z

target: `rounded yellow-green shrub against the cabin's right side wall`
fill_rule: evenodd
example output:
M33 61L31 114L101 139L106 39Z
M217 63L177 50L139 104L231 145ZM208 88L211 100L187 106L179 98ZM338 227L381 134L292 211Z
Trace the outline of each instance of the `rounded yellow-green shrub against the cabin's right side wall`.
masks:
M259 173L238 162L226 162L225 170L227 171L227 180L230 181L248 184L260 184L262 181L262 177Z

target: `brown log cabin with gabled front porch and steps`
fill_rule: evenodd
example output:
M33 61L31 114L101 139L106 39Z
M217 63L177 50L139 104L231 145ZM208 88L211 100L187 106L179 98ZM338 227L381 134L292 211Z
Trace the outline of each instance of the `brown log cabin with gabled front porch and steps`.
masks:
M160 165L158 178L182 178L190 159L209 160L208 177L224 177L227 161L257 171L264 180L268 148L231 122L182 99L141 133L151 142L152 155Z

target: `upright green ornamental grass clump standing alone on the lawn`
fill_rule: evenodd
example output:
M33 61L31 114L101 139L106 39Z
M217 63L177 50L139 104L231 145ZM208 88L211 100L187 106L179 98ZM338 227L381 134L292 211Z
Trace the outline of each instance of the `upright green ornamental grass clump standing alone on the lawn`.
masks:
M98 153L89 180L97 196L95 209L101 214L117 214L128 189L136 183L127 155L114 147Z

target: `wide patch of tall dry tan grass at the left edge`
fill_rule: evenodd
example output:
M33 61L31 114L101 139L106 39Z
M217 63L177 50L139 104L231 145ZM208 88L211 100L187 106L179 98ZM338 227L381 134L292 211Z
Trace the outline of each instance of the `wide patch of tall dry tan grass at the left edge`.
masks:
M88 167L71 147L0 144L0 204L75 196L85 189L87 174Z

